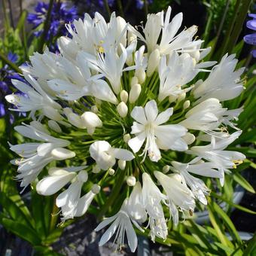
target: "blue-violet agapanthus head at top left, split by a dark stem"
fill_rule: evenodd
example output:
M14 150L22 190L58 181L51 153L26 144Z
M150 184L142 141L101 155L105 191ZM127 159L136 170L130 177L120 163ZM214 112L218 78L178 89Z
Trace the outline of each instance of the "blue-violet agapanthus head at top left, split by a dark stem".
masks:
M37 29L34 32L35 36L41 35L43 32L43 26L47 17L47 11L49 4L44 2L38 2L35 6L35 13L29 13L27 20L32 23L33 29ZM78 11L75 6L69 8L69 5L63 2L57 2L53 4L53 9L50 16L50 29L47 32L47 40L56 35L66 35L67 31L65 28L66 23L70 23L73 20L78 19Z

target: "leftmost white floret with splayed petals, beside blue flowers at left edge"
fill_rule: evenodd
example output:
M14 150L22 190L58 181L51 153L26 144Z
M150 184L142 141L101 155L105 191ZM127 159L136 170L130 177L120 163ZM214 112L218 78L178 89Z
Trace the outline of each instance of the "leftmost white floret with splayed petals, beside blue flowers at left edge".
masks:
M14 104L16 108L11 110L13 111L31 111L31 116L35 119L35 112L36 111L44 111L44 108L55 108L60 109L61 106L59 103L54 102L54 100L41 88L38 81L32 78L31 75L24 75L26 81L29 82L31 86L28 84L23 83L19 80L12 80L12 84L20 90L20 92L25 93L24 95L17 95L17 94L10 94L5 96L5 99ZM47 115L47 111L44 111L44 114Z

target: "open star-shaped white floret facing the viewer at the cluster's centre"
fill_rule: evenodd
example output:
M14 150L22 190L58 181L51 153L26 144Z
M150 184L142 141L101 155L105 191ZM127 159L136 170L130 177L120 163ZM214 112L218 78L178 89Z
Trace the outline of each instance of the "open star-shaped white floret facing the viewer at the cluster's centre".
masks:
M172 149L177 151L187 150L187 144L181 139L187 130L178 124L167 124L169 117L172 115L172 108L167 108L166 111L158 114L157 103L151 100L145 105L145 108L135 107L131 113L133 119L132 134L136 137L130 139L128 145L133 149L133 152L138 152L145 143L145 149L142 154L148 156L154 162L161 158L159 149ZM144 157L145 159L145 157Z

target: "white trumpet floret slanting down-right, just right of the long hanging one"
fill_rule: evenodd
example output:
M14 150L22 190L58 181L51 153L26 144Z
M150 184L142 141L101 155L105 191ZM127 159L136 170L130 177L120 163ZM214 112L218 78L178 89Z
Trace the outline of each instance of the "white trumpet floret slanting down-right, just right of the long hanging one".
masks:
M162 172L154 172L163 190L166 192L170 214L173 223L178 224L178 209L181 212L194 212L196 206L194 194L178 180L176 174L165 175Z

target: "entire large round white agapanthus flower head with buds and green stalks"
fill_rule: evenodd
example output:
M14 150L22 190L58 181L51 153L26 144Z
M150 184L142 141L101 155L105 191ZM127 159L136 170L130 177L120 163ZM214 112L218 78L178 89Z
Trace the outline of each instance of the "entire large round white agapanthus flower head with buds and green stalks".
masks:
M21 157L14 160L17 178L23 187L37 182L45 196L61 190L56 206L63 221L84 215L96 194L105 193L101 187L122 181L114 186L126 199L117 197L120 211L96 227L112 223L100 245L116 232L121 246L126 233L135 251L133 225L143 232L145 221L153 241L166 239L167 218L177 225L197 200L207 204L209 188L197 175L223 185L224 172L245 159L225 150L241 134L233 120L242 108L221 104L242 92L243 69L235 70L233 55L204 62L210 48L194 39L197 26L178 33L182 14L172 21L170 14L171 8L149 14L139 29L114 13L109 23L85 14L66 26L71 37L59 38L60 53L46 49L31 57L23 68L27 84L13 81L24 96L6 96L32 117L15 130L37 141L11 145ZM197 79L202 72L209 72L205 81ZM190 162L178 162L184 159ZM55 167L45 177L48 163Z

